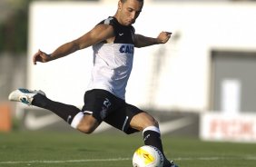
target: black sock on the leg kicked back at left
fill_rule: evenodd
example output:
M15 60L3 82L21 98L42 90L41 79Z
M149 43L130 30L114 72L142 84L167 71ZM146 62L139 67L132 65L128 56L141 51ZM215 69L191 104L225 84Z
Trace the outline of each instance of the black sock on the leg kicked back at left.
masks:
M52 111L69 124L72 123L74 116L81 112L81 110L74 105L54 102L40 93L34 95L32 104L34 106Z

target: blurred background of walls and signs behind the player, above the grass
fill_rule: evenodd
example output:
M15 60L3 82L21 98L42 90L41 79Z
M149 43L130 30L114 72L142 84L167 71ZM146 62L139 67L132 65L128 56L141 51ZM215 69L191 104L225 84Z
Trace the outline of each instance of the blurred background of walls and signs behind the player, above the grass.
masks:
M19 87L83 106L92 49L31 63L114 15L117 0L0 1L0 131L70 131L57 116L10 103ZM256 3L145 0L136 33L172 32L168 44L137 49L126 100L152 113L163 134L256 142ZM77 56L75 56L77 55ZM61 86L59 86L61 84ZM112 131L103 124L95 133Z

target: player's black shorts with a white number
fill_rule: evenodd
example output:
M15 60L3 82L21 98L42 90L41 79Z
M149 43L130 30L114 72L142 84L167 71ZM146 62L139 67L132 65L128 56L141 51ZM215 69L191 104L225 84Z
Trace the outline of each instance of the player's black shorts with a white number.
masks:
M125 103L123 99L100 89L87 91L84 94L82 111L85 114L93 114L99 123L108 123L127 134L138 132L130 127L130 122L134 115L143 113L139 108Z

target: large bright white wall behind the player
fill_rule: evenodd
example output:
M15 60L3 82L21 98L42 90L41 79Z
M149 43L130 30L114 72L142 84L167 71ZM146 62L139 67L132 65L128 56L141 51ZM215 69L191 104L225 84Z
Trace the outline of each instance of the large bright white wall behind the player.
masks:
M39 48L51 53L60 44L86 33L114 15L116 7L34 2L30 10L27 86L44 90L53 100L83 105L92 65L91 48L36 66L32 65L32 56ZM173 39L168 44L135 50L127 102L168 111L208 110L210 53L212 49L255 51L255 15L256 5L251 3L145 3L134 24L136 33L156 36L172 31ZM162 50L163 55L158 55ZM164 56L157 76L153 76L155 55Z

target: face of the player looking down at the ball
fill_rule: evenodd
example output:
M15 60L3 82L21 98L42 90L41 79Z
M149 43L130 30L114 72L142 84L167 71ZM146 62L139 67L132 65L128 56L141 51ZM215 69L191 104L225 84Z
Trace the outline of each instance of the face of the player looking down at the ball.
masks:
M143 2L137 0L119 1L118 5L122 25L133 25L143 9Z

